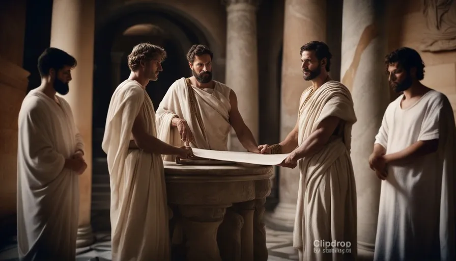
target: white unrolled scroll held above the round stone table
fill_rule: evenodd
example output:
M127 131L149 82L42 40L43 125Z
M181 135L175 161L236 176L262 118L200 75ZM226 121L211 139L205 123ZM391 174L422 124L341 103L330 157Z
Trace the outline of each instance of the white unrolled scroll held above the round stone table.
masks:
M238 152L238 151L219 151L219 150L209 150L209 149L197 149L192 148L193 154L195 156L219 160L219 161L231 161L231 162L241 162L241 163L250 163L258 165L279 165L287 158L288 154L258 154L252 152Z

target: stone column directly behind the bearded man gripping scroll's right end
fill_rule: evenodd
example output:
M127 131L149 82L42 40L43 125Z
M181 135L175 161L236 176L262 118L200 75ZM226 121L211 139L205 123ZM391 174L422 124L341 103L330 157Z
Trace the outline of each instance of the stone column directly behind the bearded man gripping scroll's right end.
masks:
M299 97L311 85L302 77L301 46L326 40L326 1L286 0L283 30L280 139L298 119ZM276 229L293 230L298 196L299 168L280 168L279 204L266 221Z

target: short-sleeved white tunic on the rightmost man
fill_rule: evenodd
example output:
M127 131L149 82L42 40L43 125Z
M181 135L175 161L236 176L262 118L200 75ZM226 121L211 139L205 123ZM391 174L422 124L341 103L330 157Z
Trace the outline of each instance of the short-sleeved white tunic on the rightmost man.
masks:
M380 193L375 260L456 260L456 127L448 98L429 91L401 109L391 102L375 143L386 153L439 139L437 152L390 164Z

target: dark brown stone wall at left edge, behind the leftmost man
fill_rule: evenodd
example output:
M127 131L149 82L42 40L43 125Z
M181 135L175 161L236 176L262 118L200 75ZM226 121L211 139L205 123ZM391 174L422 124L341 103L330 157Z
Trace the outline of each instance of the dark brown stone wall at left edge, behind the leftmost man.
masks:
M17 117L29 72L22 69L26 1L0 9L0 234L15 230ZM1 239L0 239L1 240Z

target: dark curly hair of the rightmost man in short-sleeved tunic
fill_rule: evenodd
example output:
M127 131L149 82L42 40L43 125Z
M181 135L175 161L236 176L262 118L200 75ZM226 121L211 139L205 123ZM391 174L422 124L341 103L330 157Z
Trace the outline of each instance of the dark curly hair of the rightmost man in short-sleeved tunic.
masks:
M397 63L398 66L404 68L407 72L410 72L412 68L416 68L416 79L418 81L424 79L424 62L415 49L401 47L387 55L385 57L386 73L389 73L388 66L393 63Z

